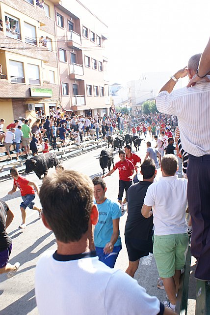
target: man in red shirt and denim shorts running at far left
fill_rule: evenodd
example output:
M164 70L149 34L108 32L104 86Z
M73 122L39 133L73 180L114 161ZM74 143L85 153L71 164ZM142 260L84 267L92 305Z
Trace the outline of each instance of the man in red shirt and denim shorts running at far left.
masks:
M23 202L20 204L21 214L22 214L22 224L19 228L26 228L26 208L32 210L37 210L39 212L39 218L42 217L42 210L37 208L33 202L35 198L35 191L33 187L36 189L37 194L39 195L39 188L34 182L29 182L23 176L19 175L19 172L16 168L10 169L10 174L12 178L14 178L13 189L8 192L8 194L12 194L16 191L17 187L21 190L21 197ZM33 186L33 187L32 187Z

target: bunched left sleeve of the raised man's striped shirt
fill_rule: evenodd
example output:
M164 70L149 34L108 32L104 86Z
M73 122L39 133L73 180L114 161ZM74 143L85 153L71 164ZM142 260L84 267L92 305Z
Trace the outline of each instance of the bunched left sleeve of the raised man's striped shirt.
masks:
M167 91L162 91L156 96L156 106L160 113L175 115L174 108L172 106L173 96Z

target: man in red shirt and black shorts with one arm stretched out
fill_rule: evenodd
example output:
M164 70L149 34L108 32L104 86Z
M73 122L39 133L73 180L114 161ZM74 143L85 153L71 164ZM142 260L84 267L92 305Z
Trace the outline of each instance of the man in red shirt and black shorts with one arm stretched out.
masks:
M110 170L106 175L102 176L102 178L105 178L106 176L111 175L112 173L116 171L116 169L119 170L120 180L119 180L119 193L118 193L117 199L118 199L118 202L121 204L122 212L124 212L125 211L124 204L126 203L126 198L124 199L124 201L122 201L123 192L125 189L127 193L127 190L132 185L132 180L136 172L135 172L135 167L133 163L130 160L126 159L126 153L124 150L119 151L119 157L120 157L120 161L114 165L114 168L112 170Z

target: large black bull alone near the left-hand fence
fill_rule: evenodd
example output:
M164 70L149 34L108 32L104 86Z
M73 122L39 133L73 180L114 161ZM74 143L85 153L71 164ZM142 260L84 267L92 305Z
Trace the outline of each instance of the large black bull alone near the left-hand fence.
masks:
M34 171L39 179L47 176L49 168L59 164L55 153L45 153L26 160L26 174Z

